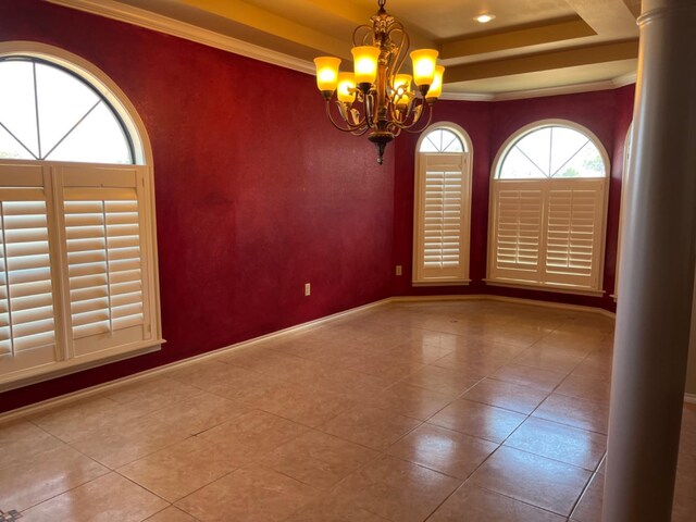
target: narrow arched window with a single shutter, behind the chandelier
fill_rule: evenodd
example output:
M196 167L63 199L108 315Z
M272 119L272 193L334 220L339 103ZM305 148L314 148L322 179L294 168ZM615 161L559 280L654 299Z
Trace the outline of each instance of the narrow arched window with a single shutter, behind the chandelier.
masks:
M469 282L471 141L458 125L428 127L417 148L413 283Z

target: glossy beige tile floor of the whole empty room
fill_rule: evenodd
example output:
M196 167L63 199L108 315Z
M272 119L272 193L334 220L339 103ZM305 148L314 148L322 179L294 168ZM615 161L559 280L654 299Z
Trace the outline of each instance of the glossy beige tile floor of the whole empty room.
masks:
M23 522L599 521L612 330L533 306L393 303L228 351L0 425L0 510ZM673 521L694 520L686 407Z

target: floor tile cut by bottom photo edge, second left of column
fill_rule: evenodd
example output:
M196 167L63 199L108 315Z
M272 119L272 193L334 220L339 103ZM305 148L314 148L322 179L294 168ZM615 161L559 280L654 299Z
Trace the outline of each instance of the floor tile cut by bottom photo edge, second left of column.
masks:
M548 511L464 484L427 522L564 522Z

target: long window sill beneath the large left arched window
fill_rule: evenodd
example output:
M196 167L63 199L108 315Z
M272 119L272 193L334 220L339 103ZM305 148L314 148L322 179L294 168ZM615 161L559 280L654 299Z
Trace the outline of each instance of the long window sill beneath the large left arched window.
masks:
M159 351L164 343L163 339L142 341L3 375L0 377L0 393Z

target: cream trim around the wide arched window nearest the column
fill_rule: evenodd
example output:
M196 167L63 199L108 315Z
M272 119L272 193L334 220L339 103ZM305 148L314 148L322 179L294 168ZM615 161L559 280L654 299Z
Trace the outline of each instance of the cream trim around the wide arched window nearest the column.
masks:
M579 133L587 136L593 145L597 147L599 153L601 154L601 159L605 163L605 190L604 190L604 209L602 209L602 224L601 224L601 239L600 246L601 251L599 253L599 266L598 266L598 287L597 288L585 288L577 287L572 285L555 285L555 284L539 284L527 281L518 281L518 279L507 279L507 278L495 278L490 276L493 263L495 262L495 220L493 217L493 210L495 208L494 200L494 190L493 184L496 182L506 182L506 179L498 179L497 175L500 171L502 160L506 158L507 153L510 151L512 147L527 133L534 130L536 128L560 125L564 127L570 127ZM605 148L601 140L597 137L595 133L589 130L584 125L579 123L562 120L562 119L547 119L547 120L538 120L536 122L524 125L519 128L514 133L512 133L508 139L505 140L502 146L498 149L498 153L496 154L492 167L490 167L490 188L488 190L488 254L486 261L486 278L484 282L490 286L504 286L510 288L530 288L536 290L547 290L560 294L579 294L579 295L591 295L591 296L604 296L606 290L604 290L604 275L605 275L605 256L606 256L606 247L607 247L607 214L609 207L609 178L611 174L611 162L609 161L609 154L607 149ZM532 182L549 182L555 179L554 177L544 177L544 178L532 178ZM560 179L560 178L559 178ZM563 178L571 179L571 178ZM577 179L588 179L588 178L577 178ZM518 182L523 182L524 179L517 179Z

